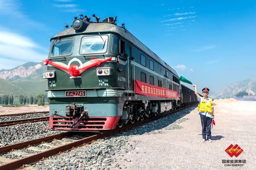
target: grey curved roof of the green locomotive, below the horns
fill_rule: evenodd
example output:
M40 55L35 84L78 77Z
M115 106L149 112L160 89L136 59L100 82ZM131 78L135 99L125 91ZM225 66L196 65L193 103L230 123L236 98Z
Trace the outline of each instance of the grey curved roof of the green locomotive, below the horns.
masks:
M171 66L165 63L165 61L163 61L159 56L157 56L157 54L155 54L143 43L141 43L141 41L139 41L129 31L125 30L122 27L119 27L118 25L114 25L112 23L90 23L86 28L86 30L84 30L83 32L76 32L76 30L74 30L73 27L71 27L61 31L60 33L57 33L54 37L73 35L76 33L80 34L80 33L98 33L98 32L113 32L113 33L120 34L120 36L123 36L127 40L131 41L131 43L133 43L134 46L140 48L142 51L144 51L144 53L151 56L154 60L162 64L162 66L169 69L173 74L178 76L177 72L174 69L172 69Z

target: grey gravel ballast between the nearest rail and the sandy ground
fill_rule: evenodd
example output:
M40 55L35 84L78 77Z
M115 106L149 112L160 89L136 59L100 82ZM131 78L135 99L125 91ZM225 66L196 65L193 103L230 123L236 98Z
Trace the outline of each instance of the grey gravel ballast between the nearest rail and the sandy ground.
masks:
M130 162L130 159L125 159L129 150L134 150L135 147L129 142L133 136L146 134L160 133L163 128L180 129L178 124L186 119L181 118L188 113L188 109L184 109L175 114L170 114L161 119L149 122L131 130L121 132L112 137L107 137L96 141L90 145L78 147L71 152L64 152L61 155L49 157L46 161L37 162L34 165L27 165L32 167L39 167L40 169L66 169L66 170L84 170L84 169L120 169L126 168L123 161ZM180 119L181 118L181 119ZM122 157L123 161L119 162Z

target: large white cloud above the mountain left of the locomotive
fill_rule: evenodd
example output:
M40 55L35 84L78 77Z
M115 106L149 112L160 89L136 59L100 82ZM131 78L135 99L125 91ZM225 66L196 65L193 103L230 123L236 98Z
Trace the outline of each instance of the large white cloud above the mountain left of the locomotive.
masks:
M0 58L2 64L0 69L9 68L10 64L13 63L9 61L23 61L23 63L29 61L40 62L48 56L45 48L40 47L26 36L0 30L0 37ZM17 65L12 65L12 67L15 66Z

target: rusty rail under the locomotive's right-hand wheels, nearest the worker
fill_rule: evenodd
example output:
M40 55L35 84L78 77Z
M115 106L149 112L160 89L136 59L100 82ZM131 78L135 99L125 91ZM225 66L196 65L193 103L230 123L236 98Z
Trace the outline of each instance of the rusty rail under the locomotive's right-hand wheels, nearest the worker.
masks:
M143 121L135 122L134 124L127 124L122 128L116 128L116 129L113 129L113 130L110 130L110 131L101 132L99 134L95 134L93 136L86 137L84 139L81 139L81 140L78 140L78 141L75 141L75 142L72 142L72 143L69 143L69 144L66 144L66 145L61 145L60 147L56 147L56 148L53 148L53 149L50 149L50 150L46 150L44 152L40 152L40 153L37 153L35 155L24 157L24 158L19 159L19 160L14 160L12 162L9 162L9 163L6 163L6 164L0 166L0 170L6 170L6 169L11 170L11 169L21 168L21 167L24 167L24 165L32 164L32 163L38 162L39 160L44 160L44 158L47 158L47 157L50 157L50 156L53 156L53 155L57 155L60 152L72 150L75 147L79 147L79 146L82 146L82 145L89 144L91 142L94 142L95 140L99 140L99 139L102 139L104 137L116 134L118 132L121 132L121 131L124 131L124 130L127 130L127 129L131 129L132 127L136 127L140 124L144 124L146 122L150 122L152 120L159 119L161 117L166 116L167 114L178 112L182 109L186 109L186 108L192 107L192 106L193 106L193 104L190 105L190 106L187 106L187 107L177 109L177 110L173 110L173 111L170 111L170 112L159 114L155 117L150 117L150 118L145 119Z

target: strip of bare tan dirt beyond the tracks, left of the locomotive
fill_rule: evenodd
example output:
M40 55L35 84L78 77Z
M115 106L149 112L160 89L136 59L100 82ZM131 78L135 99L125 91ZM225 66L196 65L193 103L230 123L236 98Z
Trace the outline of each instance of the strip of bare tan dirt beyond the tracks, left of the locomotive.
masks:
M2 106L0 106L0 115L18 114L18 113L24 113L24 112L43 112L43 111L49 111L49 105L47 105L47 106L28 105L27 107L2 107Z

